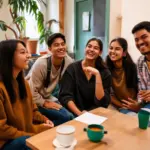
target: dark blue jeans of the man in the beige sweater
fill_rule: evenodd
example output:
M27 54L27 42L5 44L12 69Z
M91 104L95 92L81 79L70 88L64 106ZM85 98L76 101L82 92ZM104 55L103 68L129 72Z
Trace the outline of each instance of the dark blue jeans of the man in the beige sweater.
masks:
M48 109L39 106L39 111L46 116L48 119L53 121L54 125L60 125L74 118L73 114L70 113L67 109L62 107L60 110Z

